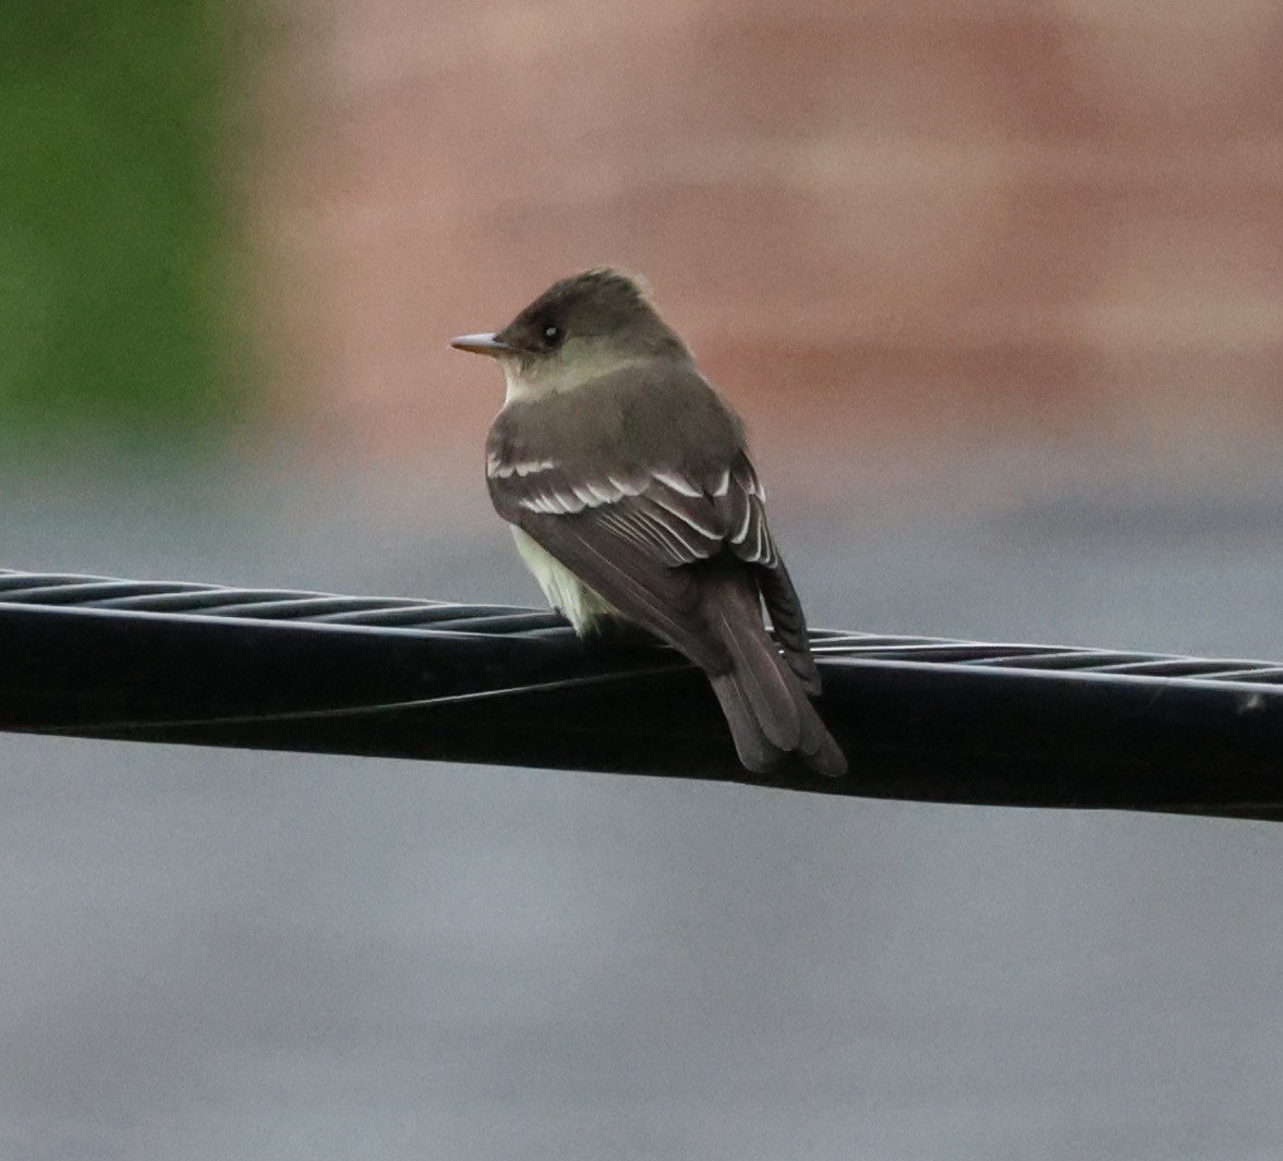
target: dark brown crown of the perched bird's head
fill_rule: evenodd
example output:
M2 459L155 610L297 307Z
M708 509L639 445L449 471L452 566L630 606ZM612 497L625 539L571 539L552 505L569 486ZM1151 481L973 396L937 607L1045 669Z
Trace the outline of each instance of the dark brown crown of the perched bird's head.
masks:
M552 354L567 339L607 339L639 354L686 353L648 301L645 284L612 267L554 282L498 337L532 358Z

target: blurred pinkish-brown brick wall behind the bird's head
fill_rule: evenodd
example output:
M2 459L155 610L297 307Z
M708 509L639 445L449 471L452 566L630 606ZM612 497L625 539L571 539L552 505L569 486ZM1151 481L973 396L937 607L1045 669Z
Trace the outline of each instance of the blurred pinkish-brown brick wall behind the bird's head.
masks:
M647 275L784 443L1283 437L1283 9L277 0L250 233L278 416L475 452L449 352Z

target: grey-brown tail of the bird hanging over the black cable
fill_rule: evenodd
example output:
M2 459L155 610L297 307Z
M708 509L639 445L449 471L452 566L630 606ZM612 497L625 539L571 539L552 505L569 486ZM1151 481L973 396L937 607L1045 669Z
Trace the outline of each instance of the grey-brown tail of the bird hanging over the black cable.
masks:
M740 762L765 774L788 754L829 777L847 772L847 759L825 729L798 675L767 636L756 590L721 584L704 603L730 656L730 668L709 674L713 693L735 739Z

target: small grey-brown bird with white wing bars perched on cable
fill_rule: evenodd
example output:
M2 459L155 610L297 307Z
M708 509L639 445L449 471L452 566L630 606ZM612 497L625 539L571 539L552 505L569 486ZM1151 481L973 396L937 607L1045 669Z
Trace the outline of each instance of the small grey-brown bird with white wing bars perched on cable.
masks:
M820 674L744 425L643 284L590 269L452 346L503 368L486 479L549 603L580 635L622 617L681 650L708 675L749 770L795 753L844 774L808 697Z

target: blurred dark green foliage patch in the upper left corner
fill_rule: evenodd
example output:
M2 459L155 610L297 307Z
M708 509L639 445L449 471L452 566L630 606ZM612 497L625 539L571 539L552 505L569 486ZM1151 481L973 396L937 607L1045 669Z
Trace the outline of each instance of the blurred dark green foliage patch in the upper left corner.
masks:
M0 59L0 423L226 417L212 0L4 0Z

